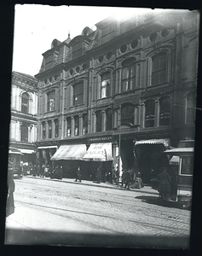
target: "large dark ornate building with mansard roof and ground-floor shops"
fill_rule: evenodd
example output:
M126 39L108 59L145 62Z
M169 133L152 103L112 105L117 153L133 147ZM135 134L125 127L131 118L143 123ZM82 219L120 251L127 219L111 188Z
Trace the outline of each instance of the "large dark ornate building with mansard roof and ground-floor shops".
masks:
M95 26L53 40L43 53L36 75L40 161L51 164L58 148L76 147L78 158L60 161L63 175L79 165L88 178L98 163L80 161L82 147L107 143L113 163L102 163L106 171L118 166L120 148L120 172L138 168L149 183L164 149L194 139L199 13L149 10Z

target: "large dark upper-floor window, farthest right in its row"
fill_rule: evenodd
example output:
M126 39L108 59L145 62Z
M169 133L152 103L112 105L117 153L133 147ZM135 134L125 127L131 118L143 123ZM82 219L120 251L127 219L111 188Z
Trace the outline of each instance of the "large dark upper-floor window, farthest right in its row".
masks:
M154 55L152 61L152 85L164 84L166 82L166 53Z

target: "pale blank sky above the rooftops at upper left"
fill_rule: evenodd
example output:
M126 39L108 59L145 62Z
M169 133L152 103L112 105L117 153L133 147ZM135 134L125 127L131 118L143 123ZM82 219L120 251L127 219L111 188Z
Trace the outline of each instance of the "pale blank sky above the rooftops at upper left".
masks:
M43 53L56 38L63 42L80 35L85 26L95 30L95 24L110 15L123 17L135 8L93 6L49 6L16 4L14 9L13 71L34 76L39 72Z

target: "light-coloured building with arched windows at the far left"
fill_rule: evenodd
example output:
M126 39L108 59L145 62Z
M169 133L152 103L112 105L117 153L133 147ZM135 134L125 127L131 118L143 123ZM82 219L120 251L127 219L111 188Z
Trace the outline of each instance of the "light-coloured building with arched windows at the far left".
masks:
M18 148L21 160L35 163L38 113L38 80L25 73L12 73L9 147Z

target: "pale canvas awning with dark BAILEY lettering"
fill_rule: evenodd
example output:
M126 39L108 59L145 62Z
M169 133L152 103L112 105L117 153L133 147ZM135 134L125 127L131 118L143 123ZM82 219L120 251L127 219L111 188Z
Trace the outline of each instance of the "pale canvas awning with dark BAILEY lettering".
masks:
M112 143L94 143L89 146L84 155L86 161L110 161L112 156Z

